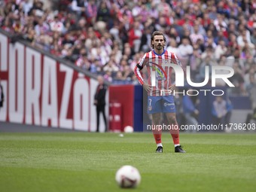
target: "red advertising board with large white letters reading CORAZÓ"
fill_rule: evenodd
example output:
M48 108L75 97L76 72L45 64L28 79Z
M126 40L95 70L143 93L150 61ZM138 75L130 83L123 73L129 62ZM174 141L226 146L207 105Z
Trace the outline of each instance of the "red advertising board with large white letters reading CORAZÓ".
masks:
M5 93L0 120L96 130L97 81L31 47L11 44L1 33L0 78Z

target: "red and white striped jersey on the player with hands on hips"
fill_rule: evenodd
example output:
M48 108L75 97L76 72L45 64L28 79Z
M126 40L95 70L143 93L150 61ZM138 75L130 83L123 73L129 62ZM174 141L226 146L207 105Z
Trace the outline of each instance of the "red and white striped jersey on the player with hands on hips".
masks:
M168 90L168 87L172 84L172 67L166 66L166 63L181 66L181 62L179 62L178 57L167 50L164 50L160 55L155 53L154 50L151 50L150 52L145 53L136 65L134 73L136 78L138 78L139 83L143 85L145 82L144 78L148 78L148 85L152 87L151 92L148 93L149 96L172 95L171 92L163 91ZM141 70L145 66L147 74L142 74Z

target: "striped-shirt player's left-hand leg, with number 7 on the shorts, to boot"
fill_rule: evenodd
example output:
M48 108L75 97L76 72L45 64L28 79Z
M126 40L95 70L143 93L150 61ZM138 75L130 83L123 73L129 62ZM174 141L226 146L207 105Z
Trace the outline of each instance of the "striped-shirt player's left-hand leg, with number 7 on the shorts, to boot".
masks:
M161 120L160 96L148 96L148 114L152 114L152 133L157 144L157 152L163 152L162 130L159 129Z

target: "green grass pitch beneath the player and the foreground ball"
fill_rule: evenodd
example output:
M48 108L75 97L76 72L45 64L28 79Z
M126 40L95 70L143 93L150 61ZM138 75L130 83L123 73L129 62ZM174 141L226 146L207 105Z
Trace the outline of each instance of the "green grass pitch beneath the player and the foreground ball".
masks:
M0 191L255 191L256 134L182 134L175 154L163 134L156 154L151 133L1 133ZM142 182L121 189L123 165Z

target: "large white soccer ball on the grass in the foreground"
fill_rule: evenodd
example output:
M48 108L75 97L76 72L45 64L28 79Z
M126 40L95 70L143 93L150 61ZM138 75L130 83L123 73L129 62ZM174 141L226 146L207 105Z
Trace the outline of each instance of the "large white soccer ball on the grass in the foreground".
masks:
M132 188L139 185L141 175L134 166L122 166L115 174L115 181L122 188Z

